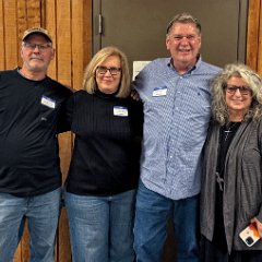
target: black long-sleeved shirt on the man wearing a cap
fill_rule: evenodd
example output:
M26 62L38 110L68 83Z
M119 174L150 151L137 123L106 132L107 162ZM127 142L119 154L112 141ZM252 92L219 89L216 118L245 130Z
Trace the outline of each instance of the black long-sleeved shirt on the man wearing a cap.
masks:
M51 80L0 72L0 192L32 196L61 184L58 128L72 92Z

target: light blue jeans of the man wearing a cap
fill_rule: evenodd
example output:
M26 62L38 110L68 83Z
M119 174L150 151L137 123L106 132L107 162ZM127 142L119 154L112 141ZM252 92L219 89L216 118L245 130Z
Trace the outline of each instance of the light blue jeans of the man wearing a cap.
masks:
M29 230L32 262L55 261L61 189L31 198L0 193L0 261L12 262L24 230Z

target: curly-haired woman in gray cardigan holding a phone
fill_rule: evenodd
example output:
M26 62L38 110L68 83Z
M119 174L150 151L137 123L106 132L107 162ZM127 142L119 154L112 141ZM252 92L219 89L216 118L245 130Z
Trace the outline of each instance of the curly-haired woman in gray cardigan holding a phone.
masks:
M201 261L261 262L262 82L233 63L212 84L213 120L204 148Z

